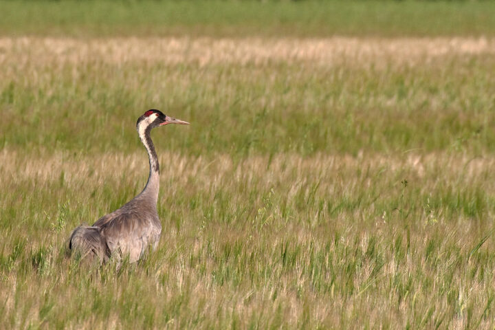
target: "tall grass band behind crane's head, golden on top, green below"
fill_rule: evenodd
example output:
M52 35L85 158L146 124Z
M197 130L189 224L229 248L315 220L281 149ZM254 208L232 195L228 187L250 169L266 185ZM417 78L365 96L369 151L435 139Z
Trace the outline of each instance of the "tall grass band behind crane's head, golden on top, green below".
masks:
M136 150L156 107L192 155L493 152L493 41L147 41L0 41L0 146Z

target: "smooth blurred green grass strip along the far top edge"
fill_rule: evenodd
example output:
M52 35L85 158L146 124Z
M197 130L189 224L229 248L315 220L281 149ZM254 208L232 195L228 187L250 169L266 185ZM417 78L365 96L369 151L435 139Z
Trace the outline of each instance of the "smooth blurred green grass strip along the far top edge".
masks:
M493 1L1 1L0 34L494 35Z

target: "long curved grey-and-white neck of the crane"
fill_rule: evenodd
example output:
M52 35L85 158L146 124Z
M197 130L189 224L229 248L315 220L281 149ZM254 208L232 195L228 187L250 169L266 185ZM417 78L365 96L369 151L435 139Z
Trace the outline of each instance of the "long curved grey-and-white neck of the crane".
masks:
M148 151L150 173L148 177L148 182L143 191L140 193L141 196L146 197L146 199L153 201L153 205L156 206L158 200L158 190L159 190L159 164L158 157L155 151L155 146L151 140L150 132L151 126L147 126L138 130L142 144L144 148Z

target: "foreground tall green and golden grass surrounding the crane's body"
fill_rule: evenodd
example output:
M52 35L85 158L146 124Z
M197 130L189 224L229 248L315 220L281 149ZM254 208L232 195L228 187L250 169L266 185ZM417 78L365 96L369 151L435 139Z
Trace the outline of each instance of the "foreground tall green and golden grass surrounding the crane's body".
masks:
M65 259L69 230L137 192L142 153L3 151L3 325L491 324L494 242L468 256L492 227L494 159L161 154L159 249L91 272Z

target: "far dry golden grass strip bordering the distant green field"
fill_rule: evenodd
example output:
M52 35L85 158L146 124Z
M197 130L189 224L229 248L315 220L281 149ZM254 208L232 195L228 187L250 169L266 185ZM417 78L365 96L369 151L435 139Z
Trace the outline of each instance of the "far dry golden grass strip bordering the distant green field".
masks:
M299 61L312 65L369 63L418 65L443 56L495 54L487 38L1 38L1 65L102 61L207 64L266 64Z

